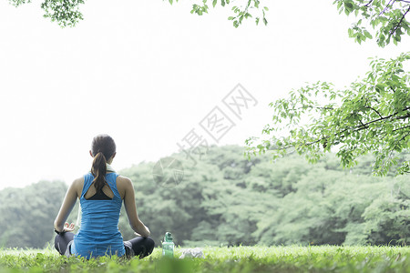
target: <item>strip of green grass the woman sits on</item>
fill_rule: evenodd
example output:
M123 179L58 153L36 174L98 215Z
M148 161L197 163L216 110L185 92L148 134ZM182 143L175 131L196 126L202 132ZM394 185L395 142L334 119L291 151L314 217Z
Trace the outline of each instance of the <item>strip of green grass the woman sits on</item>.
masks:
M410 248L399 247L235 247L203 248L205 258L66 258L56 250L0 250L1 272L410 272Z

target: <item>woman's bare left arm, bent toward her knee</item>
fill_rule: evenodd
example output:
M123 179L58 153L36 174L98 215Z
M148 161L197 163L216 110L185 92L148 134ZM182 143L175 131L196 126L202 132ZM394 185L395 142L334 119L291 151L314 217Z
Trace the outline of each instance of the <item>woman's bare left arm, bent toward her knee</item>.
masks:
M73 231L74 227L64 227L66 223L67 217L73 210L73 207L76 205L77 197L78 197L78 187L80 184L84 184L84 178L78 178L74 180L70 187L67 189L66 197L64 197L63 204L60 207L60 211L56 216L56 220L54 220L54 228L58 232L63 231Z

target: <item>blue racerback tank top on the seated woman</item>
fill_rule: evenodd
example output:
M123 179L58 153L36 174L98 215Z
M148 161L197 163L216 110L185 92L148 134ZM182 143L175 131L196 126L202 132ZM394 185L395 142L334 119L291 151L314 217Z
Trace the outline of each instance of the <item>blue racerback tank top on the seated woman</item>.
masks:
M108 173L106 180L114 193L110 200L87 200L84 196L94 180L89 172L84 176L80 197L81 227L74 236L71 253L84 258L105 255L125 255L124 242L118 229L122 199L117 189L117 173Z

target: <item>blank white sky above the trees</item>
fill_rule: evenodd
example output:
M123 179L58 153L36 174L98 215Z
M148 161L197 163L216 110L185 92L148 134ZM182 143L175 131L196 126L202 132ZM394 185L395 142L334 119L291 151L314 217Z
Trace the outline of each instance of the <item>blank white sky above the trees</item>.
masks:
M85 20L62 29L43 18L41 1L0 1L0 188L82 176L99 133L116 140L116 169L169 156L238 83L258 105L220 145L243 145L292 88L343 87L364 75L368 57L410 48L408 36L386 48L354 43L329 0L264 1L268 26L238 29L230 7L198 16L181 2L87 0Z

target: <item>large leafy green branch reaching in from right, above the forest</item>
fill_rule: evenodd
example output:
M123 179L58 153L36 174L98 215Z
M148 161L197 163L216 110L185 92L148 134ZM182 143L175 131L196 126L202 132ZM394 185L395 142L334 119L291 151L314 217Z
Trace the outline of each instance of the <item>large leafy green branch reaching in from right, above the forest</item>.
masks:
M279 99L273 108L273 125L266 125L261 140L245 140L245 155L272 151L272 158L289 152L305 154L314 163L332 148L343 167L353 167L356 158L374 153L374 174L385 175L398 163L396 153L410 149L410 73L403 63L410 52L394 59L375 58L371 70L347 89L317 82L292 90L289 98ZM405 160L398 174L410 172Z

